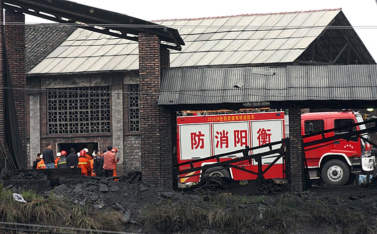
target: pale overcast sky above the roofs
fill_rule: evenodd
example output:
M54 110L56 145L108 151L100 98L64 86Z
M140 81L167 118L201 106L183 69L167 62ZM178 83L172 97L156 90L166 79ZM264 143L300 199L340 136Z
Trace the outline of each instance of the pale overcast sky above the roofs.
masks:
M377 61L377 0L191 0L191 1L132 1L76 0L79 4L122 13L142 20L186 19L242 14L281 13L323 9L343 10L348 21ZM26 23L49 23L26 16ZM168 25L166 25L168 26Z

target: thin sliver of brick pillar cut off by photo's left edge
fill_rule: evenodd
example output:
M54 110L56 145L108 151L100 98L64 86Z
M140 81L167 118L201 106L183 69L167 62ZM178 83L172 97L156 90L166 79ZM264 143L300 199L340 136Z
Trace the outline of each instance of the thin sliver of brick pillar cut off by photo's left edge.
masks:
M0 19L3 19L3 0L0 0ZM0 36L3 36L3 27L0 26ZM5 141L5 80L3 68L3 40L0 39L0 142Z

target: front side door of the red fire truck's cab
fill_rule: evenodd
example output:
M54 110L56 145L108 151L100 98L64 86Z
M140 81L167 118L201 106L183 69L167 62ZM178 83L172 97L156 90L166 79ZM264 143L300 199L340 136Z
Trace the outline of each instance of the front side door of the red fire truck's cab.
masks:
M333 119L334 128L343 127L346 125L354 124L354 119ZM356 127L343 128L334 132L334 135L339 135L347 133L350 131L356 131ZM348 140L348 141L347 141ZM361 144L360 139L357 136L352 136L349 139L338 139L334 140L332 148L334 152L344 153L347 157L360 157L361 155Z

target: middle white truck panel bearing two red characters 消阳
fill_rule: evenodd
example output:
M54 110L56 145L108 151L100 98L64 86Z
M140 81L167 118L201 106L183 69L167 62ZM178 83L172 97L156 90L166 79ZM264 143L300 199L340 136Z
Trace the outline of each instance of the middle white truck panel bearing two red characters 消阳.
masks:
M214 155L244 149L250 145L250 131L248 122L214 123L213 148ZM232 154L228 157L242 157L242 153Z

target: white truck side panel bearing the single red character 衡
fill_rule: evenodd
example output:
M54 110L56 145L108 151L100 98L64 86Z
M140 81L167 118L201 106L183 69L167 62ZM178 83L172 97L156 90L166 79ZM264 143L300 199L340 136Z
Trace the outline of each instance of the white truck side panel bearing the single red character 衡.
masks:
M267 144L270 142L279 141L283 138L282 120L268 120L268 121L253 121L251 122L251 139L252 147ZM272 149L277 149L281 144L273 145ZM269 147L263 147L260 149L252 150L253 154L269 151ZM266 157L271 157L271 154ZM269 164L275 160L276 157L263 159L262 164ZM253 161L254 165L258 163ZM282 164L282 158L280 158L276 164Z

